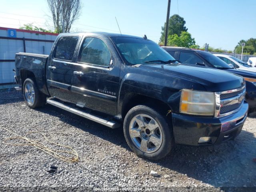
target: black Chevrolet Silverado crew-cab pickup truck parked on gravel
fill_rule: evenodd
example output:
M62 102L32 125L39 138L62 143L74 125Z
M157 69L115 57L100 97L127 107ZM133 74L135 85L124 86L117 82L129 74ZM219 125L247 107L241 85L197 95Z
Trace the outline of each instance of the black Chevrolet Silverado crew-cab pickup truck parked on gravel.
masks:
M234 139L247 116L241 76L179 64L146 36L60 34L50 55L17 53L15 64L30 108L48 103L123 126L130 148L152 160L175 143Z

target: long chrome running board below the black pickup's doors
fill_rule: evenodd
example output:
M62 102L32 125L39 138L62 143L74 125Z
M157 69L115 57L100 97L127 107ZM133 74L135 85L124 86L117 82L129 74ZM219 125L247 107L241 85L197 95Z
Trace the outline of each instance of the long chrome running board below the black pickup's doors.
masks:
M86 113L86 112L84 112L82 110L79 110L79 109L76 109L76 108L72 108L69 105L63 104L63 103L58 102L58 101L56 101L54 99L48 99L48 100L46 100L46 102L48 104L51 104L53 106L56 106L56 107L61 108L63 110L66 110L68 112L74 113L74 114L79 115L81 117L84 117L86 119L89 119L89 120L95 121L97 123L100 123L102 125L105 125L107 127L110 127L112 129L120 127L120 124L118 122L109 121L109 120L104 119L104 118L102 118L100 116L96 116L96 115L93 115L93 114L90 114L90 113Z

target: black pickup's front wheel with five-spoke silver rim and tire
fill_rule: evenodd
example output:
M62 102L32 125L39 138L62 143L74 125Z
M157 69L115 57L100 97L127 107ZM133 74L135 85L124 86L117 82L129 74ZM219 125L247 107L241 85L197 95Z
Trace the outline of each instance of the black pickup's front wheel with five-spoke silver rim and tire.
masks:
M172 126L158 110L144 105L133 107L124 118L124 136L140 157L159 160L174 145Z

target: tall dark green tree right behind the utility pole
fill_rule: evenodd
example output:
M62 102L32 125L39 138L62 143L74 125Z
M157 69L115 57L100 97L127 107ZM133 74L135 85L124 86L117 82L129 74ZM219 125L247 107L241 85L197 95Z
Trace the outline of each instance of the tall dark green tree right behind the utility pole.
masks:
M168 26L168 37L174 34L177 34L178 36L181 35L182 31L187 32L188 29L185 26L186 21L183 17L179 16L178 14L174 14L169 19L169 26ZM159 40L159 43L164 43L164 37L165 37L165 29L166 29L166 22L164 23L164 26L162 26L162 32L161 37Z

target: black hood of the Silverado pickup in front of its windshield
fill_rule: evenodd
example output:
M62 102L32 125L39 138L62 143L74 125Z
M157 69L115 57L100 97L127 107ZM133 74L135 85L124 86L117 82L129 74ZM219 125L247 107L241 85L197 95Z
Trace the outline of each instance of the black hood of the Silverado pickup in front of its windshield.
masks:
M144 64L141 69L154 70L167 76L183 78L204 86L208 91L224 91L244 85L241 76L212 68L183 64Z

